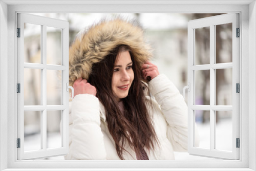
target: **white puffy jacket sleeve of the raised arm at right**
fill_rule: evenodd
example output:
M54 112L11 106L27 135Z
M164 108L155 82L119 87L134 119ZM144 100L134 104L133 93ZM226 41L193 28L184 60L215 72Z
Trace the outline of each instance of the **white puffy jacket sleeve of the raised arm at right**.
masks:
M167 138L174 151L187 151L187 105L174 83L160 74L149 83L151 94L160 105L167 122ZM197 143L197 140L196 140Z

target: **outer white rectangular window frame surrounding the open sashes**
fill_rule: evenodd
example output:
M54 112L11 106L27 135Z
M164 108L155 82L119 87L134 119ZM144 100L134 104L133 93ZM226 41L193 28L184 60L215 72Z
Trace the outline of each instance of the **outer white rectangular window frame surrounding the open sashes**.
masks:
M256 170L255 1L1 1L0 170ZM34 3L34 4L32 4ZM45 3L45 4L44 4ZM58 5L66 3L66 5ZM25 4L25 5L23 5ZM32 4L32 5L31 5ZM44 5L38 5L44 4ZM53 5L56 4L56 5ZM73 4L73 5L70 5ZM115 5L113 5L115 4ZM192 5L191 5L192 4ZM221 161L18 161L16 149L16 13L240 13L240 160ZM6 74L8 73L8 74ZM15 133L15 134L13 134ZM86 168L85 168L86 167ZM59 168L59 169L58 169ZM75 169L77 168L77 169ZM109 169L104 169L109 168ZM144 168L144 169L143 169ZM152 169L149 169L152 168ZM154 168L154 169L153 169ZM214 169L212 169L214 168ZM96 170L96 169L94 169ZM126 169L128 170L128 169Z

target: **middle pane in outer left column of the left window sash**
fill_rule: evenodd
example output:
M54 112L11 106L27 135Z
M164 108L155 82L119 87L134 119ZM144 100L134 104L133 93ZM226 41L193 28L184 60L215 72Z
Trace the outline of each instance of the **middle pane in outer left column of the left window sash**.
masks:
M41 105L40 69L24 69L24 105Z

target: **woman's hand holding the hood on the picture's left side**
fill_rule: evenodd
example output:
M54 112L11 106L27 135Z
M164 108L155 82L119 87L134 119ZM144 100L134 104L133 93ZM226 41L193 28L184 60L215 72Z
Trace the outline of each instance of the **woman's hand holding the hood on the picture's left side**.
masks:
M74 97L78 94L92 94L96 96L97 90L94 86L92 86L86 79L82 79L81 77L75 80L73 84L74 88Z

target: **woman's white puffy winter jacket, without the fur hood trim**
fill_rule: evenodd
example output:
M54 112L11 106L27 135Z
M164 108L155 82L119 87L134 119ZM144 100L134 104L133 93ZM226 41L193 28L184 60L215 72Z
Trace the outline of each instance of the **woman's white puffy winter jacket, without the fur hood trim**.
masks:
M153 109L149 113L159 146L149 151L150 160L173 160L174 151L187 151L187 105L174 84L163 74L148 84ZM106 125L104 106L90 94L79 94L70 102L70 141L67 160L120 160L115 142ZM123 158L136 160L136 154L126 143Z

